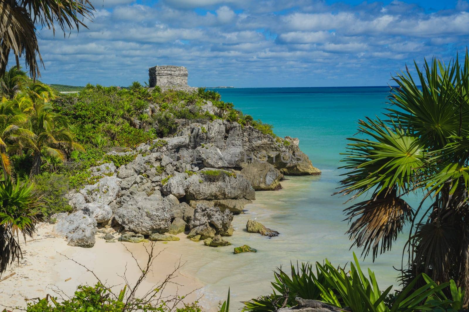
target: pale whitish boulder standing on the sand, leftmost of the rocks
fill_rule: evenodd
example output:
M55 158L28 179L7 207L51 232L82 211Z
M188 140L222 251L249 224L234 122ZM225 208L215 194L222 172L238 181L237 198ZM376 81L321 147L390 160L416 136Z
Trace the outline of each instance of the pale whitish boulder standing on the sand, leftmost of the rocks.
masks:
M55 224L54 232L64 236L68 245L91 248L94 246L97 222L82 210L61 217Z

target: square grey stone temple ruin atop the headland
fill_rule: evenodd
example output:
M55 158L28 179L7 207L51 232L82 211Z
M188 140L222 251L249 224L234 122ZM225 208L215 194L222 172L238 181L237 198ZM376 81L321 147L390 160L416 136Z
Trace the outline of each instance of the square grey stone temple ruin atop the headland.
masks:
M150 76L150 88L159 86L161 90L168 89L195 91L197 88L189 87L187 84L188 71L183 66L155 66L148 69Z

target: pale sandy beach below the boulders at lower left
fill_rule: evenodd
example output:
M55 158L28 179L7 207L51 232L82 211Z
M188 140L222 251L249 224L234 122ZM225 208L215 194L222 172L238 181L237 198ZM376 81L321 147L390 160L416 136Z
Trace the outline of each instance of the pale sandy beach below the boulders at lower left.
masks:
M71 296L76 286L93 285L97 282L91 272L87 272L84 267L61 254L88 267L101 281L106 282L106 285L119 285L115 287L116 291L124 285L122 278L118 275L123 275L126 265L127 276L131 282L140 275L135 260L123 244L126 244L141 264L148 259L143 244L106 243L106 240L98 238L102 234L97 234L96 244L92 248L71 247L64 239L54 237L52 230L53 225L40 224L38 234L32 240L29 238L26 245L22 244L23 260L20 260L19 264L14 263L2 275L6 277L15 273L0 282L0 311L6 307L10 309L16 306L25 307L26 299L44 298L47 294L58 296L57 291L64 297L65 295ZM184 237L183 233L181 237ZM174 266L180 260L184 263L182 253L184 248L180 248L182 243L181 240L170 242L170 244L162 242L155 244L155 251L161 253L154 261L153 271L141 284L140 291L149 290L159 284L174 270ZM173 282L165 290L168 295L176 291L179 295L185 295L202 286L195 278L184 275L183 267L178 270ZM187 297L186 302L195 301L198 296L197 292L193 292Z

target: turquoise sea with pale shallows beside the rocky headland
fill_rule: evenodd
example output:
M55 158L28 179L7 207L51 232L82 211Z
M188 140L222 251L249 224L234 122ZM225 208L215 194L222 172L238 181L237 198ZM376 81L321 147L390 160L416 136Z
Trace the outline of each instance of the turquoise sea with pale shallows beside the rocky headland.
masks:
M373 117L388 107L389 87L343 88L246 88L217 89L222 100L274 126L279 136L300 139L300 148L314 166L322 170L319 177L287 177L284 188L276 192L257 192L257 200L247 206L247 213L234 217L233 245L250 245L258 253L233 254L232 248L191 248L185 270L194 274L206 286L199 290L201 302L213 302L226 297L231 289L234 307L270 292L272 270L290 261L320 261L328 258L337 265L353 259L350 241L344 235L348 224L343 222L343 202L346 198L332 196L341 173L341 152L347 137L356 134L356 122ZM416 199L410 199L412 204ZM281 235L268 239L247 233L246 222L257 218ZM398 286L393 267L401 267L404 238L393 251L364 261L371 267L382 289ZM200 247L200 246L197 246ZM359 255L360 251L356 251Z

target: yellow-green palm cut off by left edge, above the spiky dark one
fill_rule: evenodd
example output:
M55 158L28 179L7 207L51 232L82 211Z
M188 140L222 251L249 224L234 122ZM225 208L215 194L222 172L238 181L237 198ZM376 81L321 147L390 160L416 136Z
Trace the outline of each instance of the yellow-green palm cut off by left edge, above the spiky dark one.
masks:
M5 178L11 177L9 154L20 151L24 141L34 136L23 125L27 116L15 107L13 101L0 102L0 165Z

